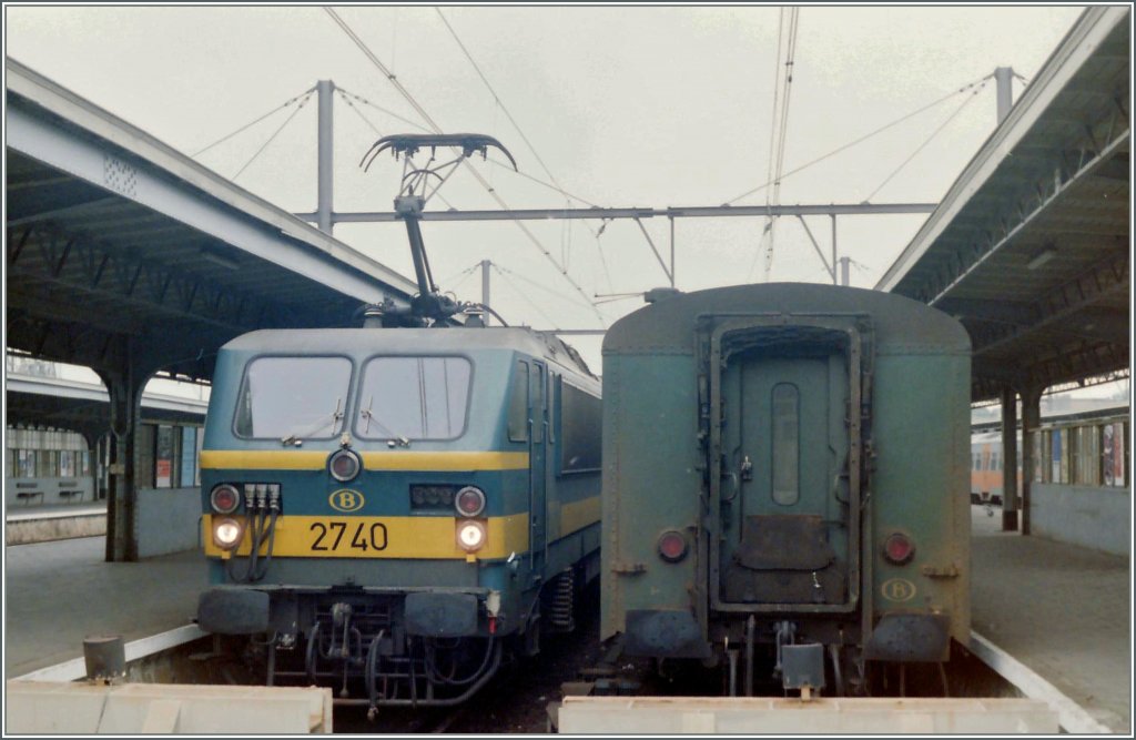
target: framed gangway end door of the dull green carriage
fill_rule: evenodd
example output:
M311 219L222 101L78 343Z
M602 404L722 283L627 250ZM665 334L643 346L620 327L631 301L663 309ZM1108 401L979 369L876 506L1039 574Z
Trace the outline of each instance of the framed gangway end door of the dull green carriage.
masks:
M707 332L713 608L854 608L864 330L857 317L777 315Z

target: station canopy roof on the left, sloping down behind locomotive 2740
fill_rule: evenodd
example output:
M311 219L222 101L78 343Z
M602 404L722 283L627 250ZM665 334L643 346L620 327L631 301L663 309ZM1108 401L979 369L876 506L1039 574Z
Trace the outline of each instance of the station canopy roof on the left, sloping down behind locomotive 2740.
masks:
M417 292L19 63L6 72L9 350L208 379L237 334L359 325L362 305Z

